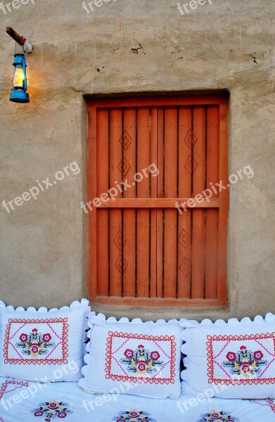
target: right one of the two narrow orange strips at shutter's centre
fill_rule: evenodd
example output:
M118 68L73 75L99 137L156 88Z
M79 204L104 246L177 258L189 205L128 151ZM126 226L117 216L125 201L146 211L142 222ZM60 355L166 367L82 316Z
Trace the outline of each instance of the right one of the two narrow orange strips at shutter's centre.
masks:
M164 109L158 108L158 198L163 197L164 192ZM157 217L157 297L163 295L163 210L156 210Z

